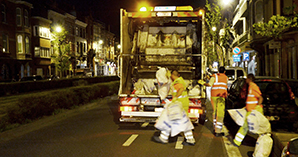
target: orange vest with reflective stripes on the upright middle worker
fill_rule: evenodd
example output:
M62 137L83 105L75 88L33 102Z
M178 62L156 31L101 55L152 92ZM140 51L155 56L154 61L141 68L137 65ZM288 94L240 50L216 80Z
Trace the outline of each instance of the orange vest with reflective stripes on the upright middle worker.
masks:
M213 77L215 78L215 81L211 88L211 96L227 97L228 77L224 73L213 74Z

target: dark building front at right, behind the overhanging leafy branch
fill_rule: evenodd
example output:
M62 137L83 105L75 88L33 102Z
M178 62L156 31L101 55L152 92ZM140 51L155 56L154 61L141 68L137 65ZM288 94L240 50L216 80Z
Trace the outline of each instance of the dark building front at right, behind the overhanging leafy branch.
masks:
M232 47L241 49L241 59L234 61L233 66L255 75L297 79L298 29L283 32L278 40L260 36L253 30L254 23L268 22L273 15L288 16L285 10L297 4L296 0L239 0L232 22L235 30Z

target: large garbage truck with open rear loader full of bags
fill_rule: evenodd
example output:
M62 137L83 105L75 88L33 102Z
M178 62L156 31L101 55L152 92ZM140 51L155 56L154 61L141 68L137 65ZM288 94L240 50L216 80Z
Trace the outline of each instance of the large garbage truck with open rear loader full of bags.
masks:
M120 9L120 122L155 122L165 100L158 94L156 72L178 70L187 84L189 118L204 123L206 91L203 79L207 57L203 53L202 10L191 6L156 6L145 11Z

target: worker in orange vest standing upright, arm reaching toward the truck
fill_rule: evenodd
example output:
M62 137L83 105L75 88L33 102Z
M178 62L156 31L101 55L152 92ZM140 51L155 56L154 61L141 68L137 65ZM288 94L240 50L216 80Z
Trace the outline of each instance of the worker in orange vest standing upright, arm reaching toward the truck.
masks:
M228 95L228 77L226 76L225 67L221 66L219 73L213 74L209 83L199 80L199 83L205 86L211 86L211 104L213 108L213 127L216 137L223 136L222 127L225 116L225 98Z

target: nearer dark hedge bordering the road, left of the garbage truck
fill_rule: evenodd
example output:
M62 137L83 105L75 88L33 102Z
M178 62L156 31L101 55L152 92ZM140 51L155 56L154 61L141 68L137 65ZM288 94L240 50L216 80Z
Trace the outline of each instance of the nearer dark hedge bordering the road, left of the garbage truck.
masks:
M43 116L53 115L59 109L71 109L92 100L117 94L119 81L77 86L34 94L26 94L18 99L2 117L0 131L8 130L11 125L24 124Z

